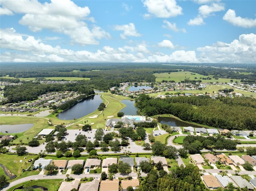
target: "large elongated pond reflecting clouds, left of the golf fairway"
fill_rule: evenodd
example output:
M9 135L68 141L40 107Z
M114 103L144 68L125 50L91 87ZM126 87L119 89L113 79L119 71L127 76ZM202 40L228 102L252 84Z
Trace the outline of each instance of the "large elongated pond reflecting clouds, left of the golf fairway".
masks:
M59 113L56 117L62 120L73 120L94 112L102 102L100 95L92 95L72 106L71 108Z

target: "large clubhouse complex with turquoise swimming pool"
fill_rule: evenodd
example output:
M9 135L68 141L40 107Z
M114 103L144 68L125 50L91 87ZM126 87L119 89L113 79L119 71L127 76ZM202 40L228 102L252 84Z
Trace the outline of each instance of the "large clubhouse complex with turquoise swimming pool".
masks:
M152 118L147 118L140 115L125 115L122 118L112 118L106 121L106 128L114 128L116 125L122 124L123 127L135 128L134 123L152 122Z

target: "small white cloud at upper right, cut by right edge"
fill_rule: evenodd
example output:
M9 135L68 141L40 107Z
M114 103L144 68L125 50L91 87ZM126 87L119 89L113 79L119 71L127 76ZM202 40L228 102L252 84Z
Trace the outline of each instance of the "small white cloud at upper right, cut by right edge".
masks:
M256 19L242 18L236 16L236 12L232 9L229 9L226 14L223 16L223 20L231 23L234 26L239 26L243 28L252 28L256 26Z

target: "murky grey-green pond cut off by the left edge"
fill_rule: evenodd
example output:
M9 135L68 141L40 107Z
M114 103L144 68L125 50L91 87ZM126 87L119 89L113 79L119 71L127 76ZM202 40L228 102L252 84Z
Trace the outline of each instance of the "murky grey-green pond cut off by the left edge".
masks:
M0 125L0 132L5 133L6 131L8 133L21 133L26 130L29 130L32 128L34 124L27 123L27 124L17 124L17 125Z

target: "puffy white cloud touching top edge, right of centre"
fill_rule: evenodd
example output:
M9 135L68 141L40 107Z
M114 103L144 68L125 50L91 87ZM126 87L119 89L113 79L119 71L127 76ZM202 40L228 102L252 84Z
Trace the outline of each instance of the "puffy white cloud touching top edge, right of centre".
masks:
M182 14L182 8L176 4L176 0L142 0L149 14L158 18L176 17Z

